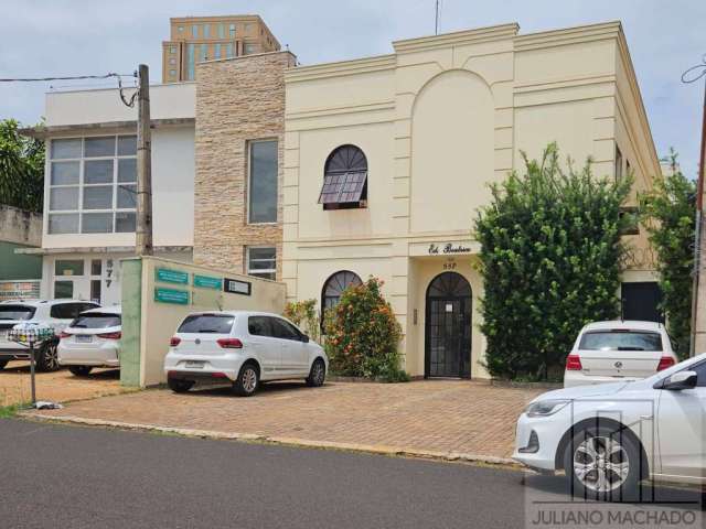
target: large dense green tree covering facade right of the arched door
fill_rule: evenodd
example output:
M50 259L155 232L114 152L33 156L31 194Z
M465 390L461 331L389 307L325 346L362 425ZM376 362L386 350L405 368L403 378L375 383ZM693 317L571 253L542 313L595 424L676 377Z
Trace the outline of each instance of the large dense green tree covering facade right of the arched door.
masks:
M590 160L561 170L554 143L541 161L523 156L525 173L491 186L474 230L486 367L537 380L560 373L581 326L619 314L620 206L631 183L595 177Z

